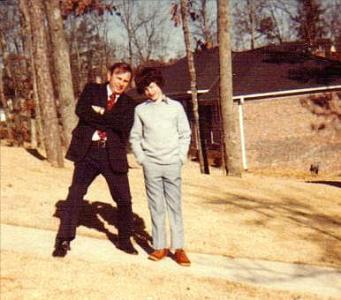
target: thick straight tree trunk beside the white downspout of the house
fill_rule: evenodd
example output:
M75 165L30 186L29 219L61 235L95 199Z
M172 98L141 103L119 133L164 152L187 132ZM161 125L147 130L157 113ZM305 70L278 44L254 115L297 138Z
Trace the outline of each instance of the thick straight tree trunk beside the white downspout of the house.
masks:
M236 120L232 99L232 57L230 40L229 1L218 0L218 39L220 62L220 105L225 171L227 175L240 176L240 158L236 142Z

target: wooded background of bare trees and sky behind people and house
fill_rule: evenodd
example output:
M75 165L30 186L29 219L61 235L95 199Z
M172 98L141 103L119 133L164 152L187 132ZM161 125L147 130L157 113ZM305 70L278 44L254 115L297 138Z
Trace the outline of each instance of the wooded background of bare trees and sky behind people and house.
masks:
M231 83L231 50L302 41L314 53L321 40L337 45L340 11L341 0L2 0L1 138L10 145L43 148L48 161L62 167L77 122L77 98L87 82L105 80L112 63L123 60L137 69L187 55L195 104L193 52L224 45L221 61L225 58L227 65L221 64L221 74L228 76L221 76L223 88ZM222 95L223 109L232 107L231 90L232 85ZM228 113L226 118L225 147L232 152L225 160L238 174L233 160L228 162L234 157L233 120ZM199 120L196 124L200 131Z

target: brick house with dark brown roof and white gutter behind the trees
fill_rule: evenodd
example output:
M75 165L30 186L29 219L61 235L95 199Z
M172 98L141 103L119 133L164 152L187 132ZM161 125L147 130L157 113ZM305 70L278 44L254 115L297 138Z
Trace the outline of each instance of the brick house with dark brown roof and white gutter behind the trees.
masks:
M209 156L219 156L218 48L195 53L195 65L202 136ZM162 71L165 94L181 101L193 120L187 59ZM341 170L341 130L321 129L318 124L326 121L324 117L302 104L312 96L336 97L341 93L340 62L311 56L302 47L287 44L233 53L232 72L239 152L245 170L309 171L316 164L324 173ZM196 148L194 136L192 154Z

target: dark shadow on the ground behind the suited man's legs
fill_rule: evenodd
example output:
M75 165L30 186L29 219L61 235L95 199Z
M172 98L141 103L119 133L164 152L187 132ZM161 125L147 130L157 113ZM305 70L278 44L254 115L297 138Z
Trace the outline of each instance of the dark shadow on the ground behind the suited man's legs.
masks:
M53 216L61 220L65 209L66 201L59 200L56 203L56 211ZM117 247L117 234L112 233L108 229L109 226L107 226L107 224L117 228L117 208L111 204L100 201L90 202L88 200L83 200L77 227L82 225L103 232L115 247ZM144 220L135 213L133 214L132 236L136 243L146 253L150 254L153 251L150 246L152 238L146 231Z

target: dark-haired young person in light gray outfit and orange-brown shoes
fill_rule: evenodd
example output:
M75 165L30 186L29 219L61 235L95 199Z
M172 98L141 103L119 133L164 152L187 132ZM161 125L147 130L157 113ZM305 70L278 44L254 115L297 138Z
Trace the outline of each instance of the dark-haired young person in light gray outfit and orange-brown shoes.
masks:
M135 109L130 132L132 151L143 166L148 207L152 219L154 252L149 259L159 261L169 254L166 212L170 223L171 248L182 266L191 264L184 251L181 210L181 167L187 159L191 130L180 102L166 97L161 72L144 68L135 78L137 91L148 100Z

